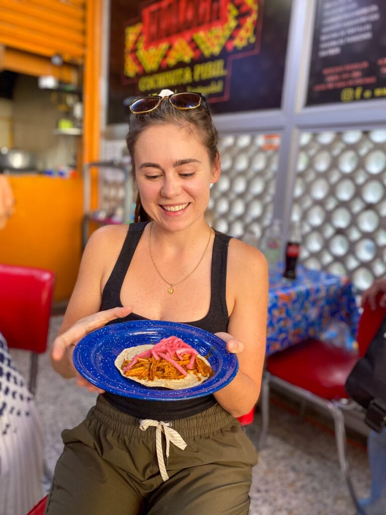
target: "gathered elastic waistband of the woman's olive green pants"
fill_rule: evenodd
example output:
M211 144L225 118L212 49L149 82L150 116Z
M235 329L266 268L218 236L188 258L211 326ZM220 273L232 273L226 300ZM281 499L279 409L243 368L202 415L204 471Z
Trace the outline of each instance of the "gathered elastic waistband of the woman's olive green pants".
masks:
M172 401L165 401L172 402ZM87 419L97 419L104 426L110 427L121 436L130 436L139 430L140 419L127 415L112 406L102 396L98 396L96 405L90 410ZM149 417L151 418L151 413ZM210 435L222 428L238 424L237 419L232 417L219 404L202 411L198 415L178 420L164 420L169 422L170 427L176 430L183 438Z

